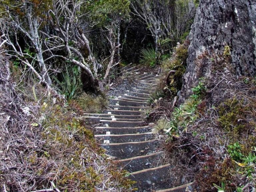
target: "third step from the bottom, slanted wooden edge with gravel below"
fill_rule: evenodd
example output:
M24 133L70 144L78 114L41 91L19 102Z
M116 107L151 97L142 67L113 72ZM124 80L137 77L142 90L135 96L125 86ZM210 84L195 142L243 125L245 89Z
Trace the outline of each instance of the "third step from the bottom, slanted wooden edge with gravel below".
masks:
M163 155L163 152L161 151L161 152L152 153L149 155L116 160L114 162L119 167L122 167L123 169L131 173L131 172L159 166L158 164L161 163L162 155Z

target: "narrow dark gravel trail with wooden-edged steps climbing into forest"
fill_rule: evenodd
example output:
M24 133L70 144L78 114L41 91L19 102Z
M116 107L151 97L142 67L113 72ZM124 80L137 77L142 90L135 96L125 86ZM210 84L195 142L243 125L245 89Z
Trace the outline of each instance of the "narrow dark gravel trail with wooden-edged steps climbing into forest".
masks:
M171 188L170 164L162 164L164 152L160 137L144 122L143 111L149 108L147 101L155 91L159 76L142 72L138 66L126 66L122 71L134 78L132 88L113 95L109 109L103 114L85 113L83 118L99 123L95 138L106 154L130 173L129 178L137 181L134 187L138 192L187 191L191 183Z

